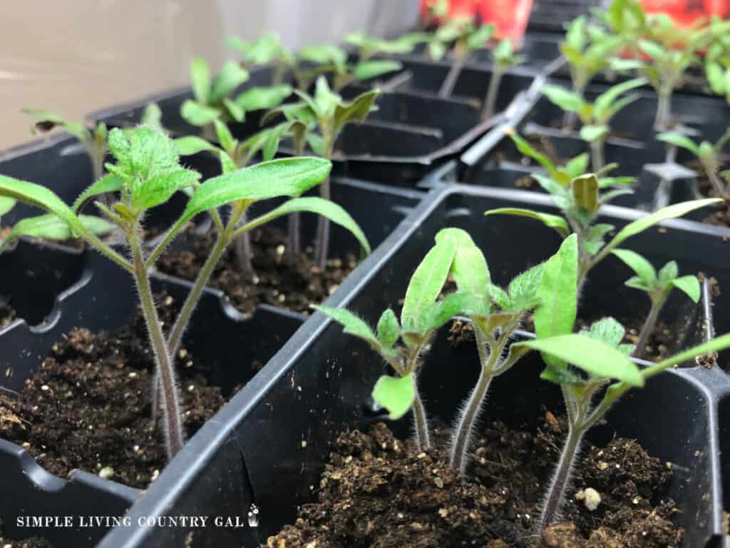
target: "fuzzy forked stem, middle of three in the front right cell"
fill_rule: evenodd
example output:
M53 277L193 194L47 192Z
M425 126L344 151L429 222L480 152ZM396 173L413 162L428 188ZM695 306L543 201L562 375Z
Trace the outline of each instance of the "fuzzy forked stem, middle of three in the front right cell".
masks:
M476 322L472 322L472 326L474 327L482 371L476 386L472 390L471 395L469 395L469 400L467 400L464 411L459 417L458 426L454 430L451 440L451 455L449 457L449 464L457 468L462 474L466 470L466 464L468 463L466 454L469 452L469 441L475 421L479 416L479 411L489 389L489 384L491 384L492 378L494 377L494 368L502 354L504 340L507 340L507 337L503 335L499 343L489 345L490 349L487 351L488 342L485 333L481 327L477 326Z

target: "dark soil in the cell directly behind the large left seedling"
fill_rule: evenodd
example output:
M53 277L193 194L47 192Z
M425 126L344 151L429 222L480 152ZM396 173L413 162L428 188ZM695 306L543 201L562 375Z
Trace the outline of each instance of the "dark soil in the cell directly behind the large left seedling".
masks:
M311 247L296 257L295 264L288 265L285 243L285 232L276 227L252 231L255 274L240 271L231 246L215 267L210 285L225 292L231 304L243 313L253 313L260 302L310 313L310 305L326 300L357 266L356 256L348 254L344 259L329 259L321 271L315 265ZM192 249L166 251L156 267L163 273L194 280L214 245L214 232L193 236Z

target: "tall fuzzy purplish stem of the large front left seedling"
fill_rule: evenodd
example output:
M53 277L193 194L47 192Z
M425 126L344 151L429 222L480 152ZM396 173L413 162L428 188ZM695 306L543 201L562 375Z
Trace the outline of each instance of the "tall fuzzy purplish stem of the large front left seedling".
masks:
M159 402L163 411L163 430L165 433L165 446L167 457L172 460L180 449L183 448L185 433L180 413L180 400L177 394L177 381L172 366L172 359L165 343L164 334L160 319L155 308L155 300L150 287L150 278L145 267L145 260L142 258L142 248L139 244L139 236L136 229L128 232L127 240L132 252L134 261L134 281L137 282L139 290L139 301L142 303L142 315L145 316L147 331L150 335L150 345L155 354L157 365L155 376L160 378L161 401ZM155 398L153 397L153 400Z

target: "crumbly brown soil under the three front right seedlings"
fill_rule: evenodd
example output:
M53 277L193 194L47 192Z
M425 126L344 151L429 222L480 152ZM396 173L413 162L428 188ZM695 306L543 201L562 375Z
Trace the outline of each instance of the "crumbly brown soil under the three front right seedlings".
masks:
M295 525L269 548L651 548L677 547L683 529L666 496L672 465L635 441L586 443L578 457L562 521L534 530L540 503L566 435L549 411L534 432L492 422L483 430L466 477L442 449L416 452L385 425L343 433L320 479L318 502L299 509ZM442 447L447 429L435 432ZM599 505L584 503L596 490Z

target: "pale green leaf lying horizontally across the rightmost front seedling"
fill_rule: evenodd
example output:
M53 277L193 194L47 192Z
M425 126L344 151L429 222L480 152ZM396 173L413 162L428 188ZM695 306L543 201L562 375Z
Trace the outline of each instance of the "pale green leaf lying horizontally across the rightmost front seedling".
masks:
M644 386L639 368L623 354L601 340L572 333L545 339L513 343L518 349L531 349L563 359L597 378L618 378L634 387Z

